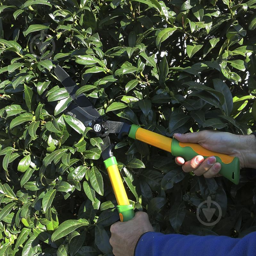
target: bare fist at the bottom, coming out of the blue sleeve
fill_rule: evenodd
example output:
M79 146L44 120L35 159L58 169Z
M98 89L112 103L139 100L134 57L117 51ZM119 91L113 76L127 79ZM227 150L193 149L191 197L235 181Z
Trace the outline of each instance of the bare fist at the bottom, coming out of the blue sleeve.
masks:
M136 243L141 235L154 231L148 215L143 211L135 213L135 217L126 222L116 222L111 228L109 240L115 256L133 256Z

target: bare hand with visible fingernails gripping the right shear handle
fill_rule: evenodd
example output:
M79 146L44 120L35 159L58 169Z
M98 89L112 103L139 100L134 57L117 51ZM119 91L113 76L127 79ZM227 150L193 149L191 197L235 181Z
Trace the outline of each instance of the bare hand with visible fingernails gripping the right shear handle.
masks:
M254 135L235 135L228 132L203 130L181 135L174 134L174 137L180 142L198 143L208 150L236 156L240 160L240 168L256 167L256 139ZM203 156L197 155L187 162L182 157L176 157L175 162L182 165L185 172L193 171L197 176L203 175L205 178L220 176L221 164L216 163L214 156L204 160Z

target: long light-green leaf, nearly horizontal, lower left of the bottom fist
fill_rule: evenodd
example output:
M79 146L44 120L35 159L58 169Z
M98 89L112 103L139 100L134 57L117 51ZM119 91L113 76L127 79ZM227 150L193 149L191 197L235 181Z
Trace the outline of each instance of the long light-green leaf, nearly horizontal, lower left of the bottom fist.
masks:
M62 238L65 235L70 234L78 227L88 226L89 222L86 219L70 219L61 223L61 225L52 234L52 241Z

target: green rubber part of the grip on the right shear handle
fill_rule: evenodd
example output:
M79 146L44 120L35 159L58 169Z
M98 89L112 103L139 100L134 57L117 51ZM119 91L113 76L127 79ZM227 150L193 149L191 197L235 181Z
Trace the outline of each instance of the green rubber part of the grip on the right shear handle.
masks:
M189 144L194 144L194 143L186 143L187 145ZM200 146L201 147L201 146ZM205 150L202 147L202 151ZM205 150L207 151L207 150ZM221 158L216 155L219 153L216 152L210 152L208 151L209 154L207 156L204 156L204 159L206 159L209 156L215 156L216 157L216 162L221 164L221 169L219 174L221 174L223 177L229 179L230 181L232 181L234 184L238 184L239 183L239 176L240 176L240 161L238 157L234 157L233 160L230 163L224 163ZM171 153L173 156L181 156L184 158L185 161L189 161L191 160L193 157L197 156L197 155L201 155L200 153L195 152L190 146L184 146L181 147L179 145L179 141L175 138L172 139L172 143L171 143ZM221 154L219 154L221 155Z

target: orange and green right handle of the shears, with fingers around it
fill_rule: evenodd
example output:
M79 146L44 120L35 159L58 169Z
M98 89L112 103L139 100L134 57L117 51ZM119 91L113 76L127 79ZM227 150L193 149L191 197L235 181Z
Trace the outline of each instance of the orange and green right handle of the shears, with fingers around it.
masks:
M221 164L219 173L235 184L238 184L239 182L240 161L237 157L207 150L197 143L179 142L175 138L171 139L169 137L140 128L137 125L131 126L128 136L168 151L172 153L173 156L181 156L186 161L191 160L197 155L202 155L204 159L209 156L215 156L216 162Z

